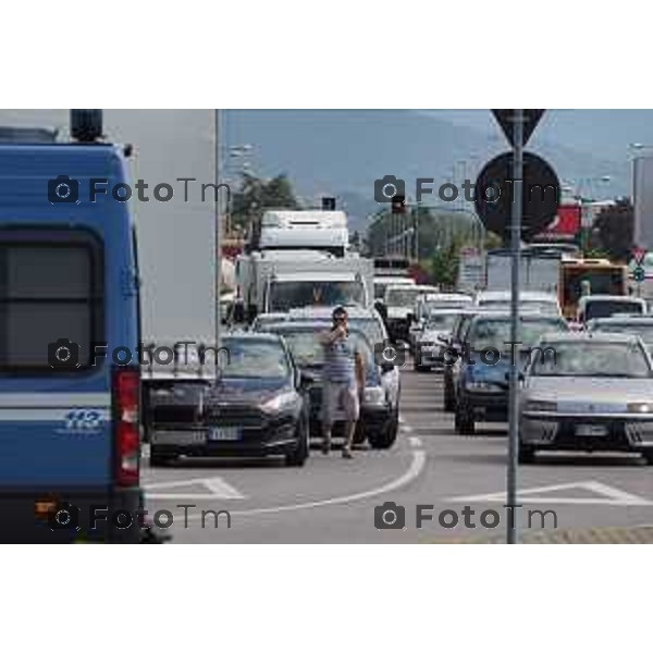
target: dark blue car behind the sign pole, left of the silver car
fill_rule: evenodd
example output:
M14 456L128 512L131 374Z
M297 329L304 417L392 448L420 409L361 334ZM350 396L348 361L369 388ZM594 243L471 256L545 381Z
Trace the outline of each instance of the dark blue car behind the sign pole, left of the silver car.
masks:
M508 373L513 356L522 369L540 337L568 331L563 318L538 313L520 317L520 344L510 345L508 313L479 313L471 319L464 342L456 345L454 427L473 435L477 421L504 422L508 417Z

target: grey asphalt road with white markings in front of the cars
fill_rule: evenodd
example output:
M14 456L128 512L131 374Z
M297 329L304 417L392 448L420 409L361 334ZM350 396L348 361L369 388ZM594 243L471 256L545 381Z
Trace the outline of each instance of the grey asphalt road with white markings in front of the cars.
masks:
M146 460L146 507L150 515L170 512L173 543L503 537L508 521L506 424L483 424L475 436L455 435L452 416L442 411L439 373L406 368L402 384L402 429L390 451L358 451L346 460L338 451L326 457L315 448L300 469L275 459L182 460L150 469ZM542 526L553 532L653 523L652 471L637 456L541 455L539 464L519 468L523 507L515 515L520 532L526 535ZM374 527L374 508L385 502L404 507L405 528ZM426 519L417 528L420 504L429 507L421 509ZM220 514L215 526L215 517L207 514L202 519L202 510L227 510L229 517ZM395 513L395 526L402 526L402 510ZM168 517L160 513L159 519ZM394 516L386 513L385 518ZM457 520L457 526L446 528L440 518L447 526Z

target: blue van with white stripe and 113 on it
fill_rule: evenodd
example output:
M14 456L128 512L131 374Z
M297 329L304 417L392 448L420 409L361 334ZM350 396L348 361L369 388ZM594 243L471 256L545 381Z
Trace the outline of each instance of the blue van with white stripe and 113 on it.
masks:
M140 538L135 225L111 192L89 200L127 181L89 125L0 143L2 542Z

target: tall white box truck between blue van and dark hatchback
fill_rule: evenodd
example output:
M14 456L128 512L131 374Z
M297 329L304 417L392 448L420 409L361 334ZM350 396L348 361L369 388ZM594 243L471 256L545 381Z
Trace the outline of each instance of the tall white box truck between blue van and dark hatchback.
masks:
M111 138L134 145L132 178L148 185L149 201L139 201L136 190L131 201L140 259L141 340L155 346L141 366L143 430L152 447L150 464L157 465L157 445L206 438L198 426L215 372L217 261L213 190L202 197L201 186L214 182L214 115L212 110L104 114ZM161 197L163 185L172 187L167 201L156 198L158 185ZM201 355L202 345L212 349Z

